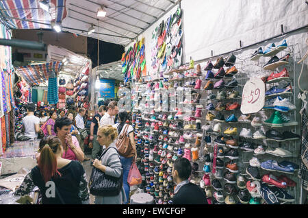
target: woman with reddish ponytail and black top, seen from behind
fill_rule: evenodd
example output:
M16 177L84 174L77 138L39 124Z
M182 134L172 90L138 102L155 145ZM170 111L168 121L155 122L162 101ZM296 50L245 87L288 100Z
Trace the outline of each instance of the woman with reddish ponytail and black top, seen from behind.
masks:
M76 160L62 158L60 138L43 138L40 147L38 166L28 173L15 195L27 195L38 186L42 204L89 204L84 168Z

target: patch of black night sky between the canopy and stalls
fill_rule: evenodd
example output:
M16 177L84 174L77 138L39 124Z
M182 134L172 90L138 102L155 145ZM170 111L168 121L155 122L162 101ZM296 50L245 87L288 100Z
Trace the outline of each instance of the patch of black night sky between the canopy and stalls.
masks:
M99 65L118 61L122 58L124 47L113 43L99 41ZM88 57L92 60L92 68L97 66L97 39L88 37Z

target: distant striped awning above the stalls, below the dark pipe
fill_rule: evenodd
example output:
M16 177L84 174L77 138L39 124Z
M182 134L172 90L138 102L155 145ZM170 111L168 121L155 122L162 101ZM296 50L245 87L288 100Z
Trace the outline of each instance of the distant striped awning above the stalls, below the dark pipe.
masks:
M47 64L34 64L21 66L16 72L25 78L27 84L35 86L41 82L45 82L49 78L51 71L55 73L61 69L62 62L49 62Z

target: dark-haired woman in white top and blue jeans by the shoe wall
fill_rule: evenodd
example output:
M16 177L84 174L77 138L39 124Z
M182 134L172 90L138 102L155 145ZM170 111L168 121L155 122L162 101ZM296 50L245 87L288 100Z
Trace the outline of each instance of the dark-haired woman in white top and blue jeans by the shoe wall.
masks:
M125 131L125 129L127 129L127 137L129 137L129 141L131 142L131 145L133 147L133 152L134 155L131 158L125 158L123 156L120 156L120 160L121 160L121 164L123 167L123 187L125 190L125 195L126 195L126 199L127 201L124 202L124 204L127 204L128 200L129 200L129 191L130 191L130 187L129 184L127 183L127 177L129 174L129 170L131 169L131 164L132 162L136 162L136 158L137 158L137 152L136 152L136 143L135 143L135 139L133 136L133 127L131 125L129 125L129 123L126 123L127 119L128 119L128 113L126 110L122 109L118 112L118 118L120 123L116 123L114 124L114 128L116 128L118 130L118 135L122 134L123 131ZM127 126L128 125L128 126Z

